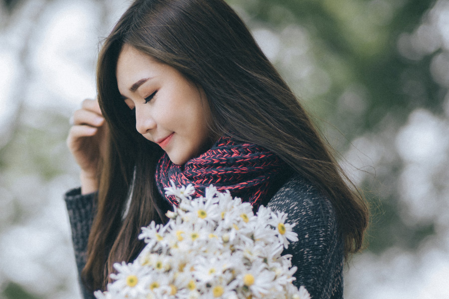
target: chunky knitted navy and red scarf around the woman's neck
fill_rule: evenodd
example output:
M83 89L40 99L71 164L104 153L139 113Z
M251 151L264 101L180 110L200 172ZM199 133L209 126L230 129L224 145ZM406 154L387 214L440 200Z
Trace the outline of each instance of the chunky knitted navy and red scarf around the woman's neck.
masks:
M277 179L286 169L287 165L267 149L222 137L210 150L183 166L173 164L165 153L157 165L156 185L164 198L178 205L174 196L165 195L164 188L171 187L170 181L177 187L192 184L194 197L203 195L205 188L213 184L220 192L229 190L232 197L250 202L256 210L280 187Z

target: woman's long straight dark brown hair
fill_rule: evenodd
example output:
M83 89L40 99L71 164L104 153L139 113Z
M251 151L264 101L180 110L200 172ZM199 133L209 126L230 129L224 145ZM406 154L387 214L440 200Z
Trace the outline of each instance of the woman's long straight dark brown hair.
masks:
M161 149L137 133L117 88L116 63L124 44L201 86L214 134L276 153L328 196L345 256L361 248L368 223L363 197L237 14L224 0L136 0L98 58L98 99L111 133L82 273L88 287L104 289L113 263L131 261L141 251L140 228L151 220L163 222L167 208L154 182Z

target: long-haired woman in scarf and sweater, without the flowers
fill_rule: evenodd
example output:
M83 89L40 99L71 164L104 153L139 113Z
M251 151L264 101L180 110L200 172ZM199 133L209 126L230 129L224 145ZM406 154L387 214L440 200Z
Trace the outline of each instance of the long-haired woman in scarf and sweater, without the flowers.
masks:
M138 255L142 226L166 220L170 180L289 213L297 285L342 298L367 206L223 0L134 1L104 41L97 88L67 139L81 167L65 199L85 298Z

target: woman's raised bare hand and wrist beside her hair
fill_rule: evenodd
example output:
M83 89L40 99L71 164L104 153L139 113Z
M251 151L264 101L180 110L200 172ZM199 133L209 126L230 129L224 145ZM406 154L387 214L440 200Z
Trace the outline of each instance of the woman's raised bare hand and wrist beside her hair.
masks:
M67 146L81 168L81 194L98 190L98 165L107 147L108 127L98 100L86 99L71 118Z

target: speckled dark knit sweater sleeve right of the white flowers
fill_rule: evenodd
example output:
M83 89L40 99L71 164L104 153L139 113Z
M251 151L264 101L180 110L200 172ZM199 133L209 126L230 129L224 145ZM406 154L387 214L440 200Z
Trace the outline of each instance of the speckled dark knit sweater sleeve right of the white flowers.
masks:
M343 240L330 201L302 178L288 181L267 204L273 211L288 213L296 223L298 241L283 254L291 254L298 269L296 287L304 286L312 299L343 298Z

